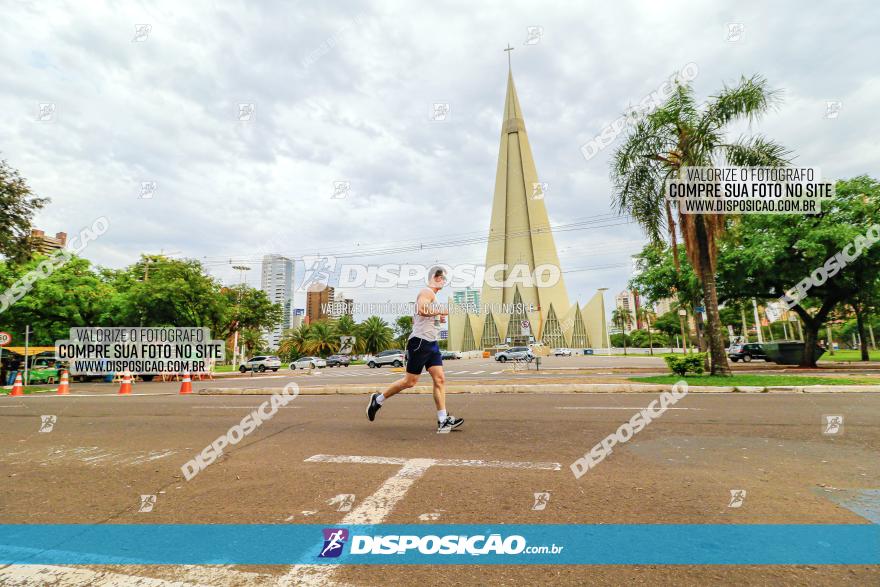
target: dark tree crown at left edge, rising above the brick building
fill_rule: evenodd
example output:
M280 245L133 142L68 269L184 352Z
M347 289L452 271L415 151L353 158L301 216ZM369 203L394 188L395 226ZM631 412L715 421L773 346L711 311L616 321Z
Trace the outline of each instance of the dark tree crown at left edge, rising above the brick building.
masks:
M31 221L48 202L35 196L19 172L0 160L0 255L16 263L31 255Z

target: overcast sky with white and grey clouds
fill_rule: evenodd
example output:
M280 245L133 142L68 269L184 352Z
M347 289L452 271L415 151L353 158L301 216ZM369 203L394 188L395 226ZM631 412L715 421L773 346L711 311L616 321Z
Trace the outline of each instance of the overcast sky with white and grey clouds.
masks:
M481 263L479 242L399 249L487 233L510 43L551 222L580 223L556 242L583 302L625 286L644 239L609 216L619 140L589 160L580 146L688 63L701 97L754 73L783 90L776 112L737 134L765 133L826 178L880 175L876 6L14 2L0 157L51 198L35 223L47 233L109 218L83 253L102 265L164 251L224 283L249 264L259 285L267 253ZM435 103L449 104L446 120L431 120ZM240 104L254 105L249 120ZM350 182L344 198L332 197L338 181ZM346 257L376 249L389 252Z

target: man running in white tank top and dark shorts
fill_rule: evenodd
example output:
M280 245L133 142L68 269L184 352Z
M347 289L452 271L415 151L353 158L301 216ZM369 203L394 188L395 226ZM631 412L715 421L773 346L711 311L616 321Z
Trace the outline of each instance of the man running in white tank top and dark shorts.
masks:
M404 389L419 382L422 369L426 369L434 380L434 404L437 406L437 433L445 434L464 423L446 413L446 376L443 374L443 357L437 343L438 326L446 322L449 310L436 303L437 292L446 285L446 270L434 267L428 273L428 287L422 288L416 298L413 315L413 331L406 341L406 375L399 379L384 393L374 393L367 405L367 418L376 419L376 412L385 401Z

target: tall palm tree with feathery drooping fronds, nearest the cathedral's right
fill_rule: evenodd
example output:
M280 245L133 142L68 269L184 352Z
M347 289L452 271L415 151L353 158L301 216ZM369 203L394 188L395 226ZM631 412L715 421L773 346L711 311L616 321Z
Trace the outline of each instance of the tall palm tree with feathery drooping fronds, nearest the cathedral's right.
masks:
M690 84L677 84L657 110L636 120L614 153L611 176L617 209L632 216L654 242L661 242L663 229L668 230L677 256L666 181L678 177L684 167L788 163L788 152L769 139L756 135L729 142L725 133L731 123L757 119L777 97L759 76L743 77L735 87L724 86L704 105L697 104ZM724 221L718 214L679 213L678 219L688 260L703 287L713 375L730 374L715 289L715 239L724 230Z

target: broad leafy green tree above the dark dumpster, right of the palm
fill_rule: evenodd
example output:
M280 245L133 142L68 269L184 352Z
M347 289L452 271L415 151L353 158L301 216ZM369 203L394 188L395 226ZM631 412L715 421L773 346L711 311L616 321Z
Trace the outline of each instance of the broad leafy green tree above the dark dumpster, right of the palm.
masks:
M880 280L880 243L871 245L865 236L880 219L880 183L859 176L838 181L835 192L820 214L744 215L721 241L722 299L777 300L804 280L813 281L812 275L819 278L792 308L803 325L804 367L816 366L819 329L835 307L875 291ZM838 254L852 254L856 247L859 255L840 263ZM836 261L827 264L832 258Z

